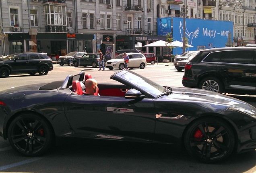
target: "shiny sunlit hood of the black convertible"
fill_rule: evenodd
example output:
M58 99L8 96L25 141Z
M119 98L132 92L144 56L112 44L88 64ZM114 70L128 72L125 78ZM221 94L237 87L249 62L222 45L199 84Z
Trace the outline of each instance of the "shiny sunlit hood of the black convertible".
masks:
M214 93L212 91L204 91L202 89L190 89L182 87L171 87L173 92L168 97L167 100L177 100L177 101L187 101L187 102L202 102L208 104L218 104L225 107L242 107L244 109L251 110L251 105L229 97L223 94Z

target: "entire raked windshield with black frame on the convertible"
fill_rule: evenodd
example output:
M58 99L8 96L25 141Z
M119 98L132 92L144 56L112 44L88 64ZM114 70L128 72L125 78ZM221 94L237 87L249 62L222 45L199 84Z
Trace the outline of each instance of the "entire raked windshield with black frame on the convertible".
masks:
M110 78L140 91L148 98L156 99L165 92L165 87L128 69L116 72Z

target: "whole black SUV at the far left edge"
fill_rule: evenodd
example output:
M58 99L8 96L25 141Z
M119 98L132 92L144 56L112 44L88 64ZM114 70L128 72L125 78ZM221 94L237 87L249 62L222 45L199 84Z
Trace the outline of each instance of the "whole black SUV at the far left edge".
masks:
M14 73L46 75L53 70L52 59L45 53L15 53L0 59L0 77Z

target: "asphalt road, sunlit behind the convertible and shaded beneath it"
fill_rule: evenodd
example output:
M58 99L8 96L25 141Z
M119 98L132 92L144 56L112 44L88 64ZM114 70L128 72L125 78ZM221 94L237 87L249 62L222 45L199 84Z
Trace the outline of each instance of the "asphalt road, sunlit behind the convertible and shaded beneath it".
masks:
M85 70L98 82L115 82L109 79L118 70L98 71L98 68L75 68L54 64L46 76L27 74L0 78L0 90L25 84L64 80L68 74ZM183 87L184 72L173 64L149 64L145 69L134 69L143 76L162 85ZM238 97L238 96L237 96ZM254 97L241 96L242 98ZM204 164L195 161L179 146L127 143L105 140L58 139L56 147L40 157L22 157L0 138L0 172L23 173L255 173L256 151L233 155L227 161Z

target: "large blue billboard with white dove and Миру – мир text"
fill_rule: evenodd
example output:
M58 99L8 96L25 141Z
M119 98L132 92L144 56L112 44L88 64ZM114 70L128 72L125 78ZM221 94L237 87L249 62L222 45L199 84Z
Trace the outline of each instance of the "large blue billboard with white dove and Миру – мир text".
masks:
M158 18L157 21L158 35L167 35L171 32L171 27L173 28L173 41L182 42L185 29L185 36L188 38L189 44L194 46L187 48L186 51L197 50L197 46L205 46L205 48L225 47L229 33L231 40L233 40L233 22L186 18L184 28L183 18ZM175 51L173 54L181 54L182 48L174 48L173 51Z

